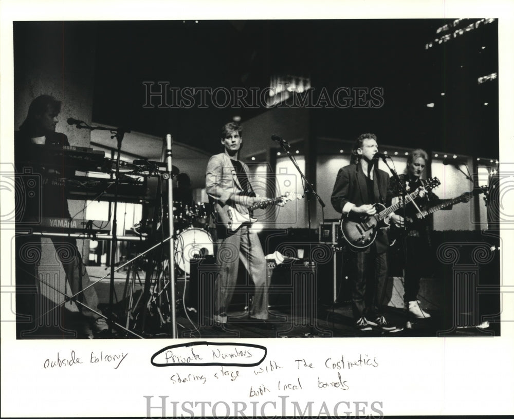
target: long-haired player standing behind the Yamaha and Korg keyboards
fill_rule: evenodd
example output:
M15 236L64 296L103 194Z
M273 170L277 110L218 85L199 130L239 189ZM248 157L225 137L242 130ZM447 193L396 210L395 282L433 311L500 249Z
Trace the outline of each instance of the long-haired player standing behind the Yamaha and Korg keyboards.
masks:
M30 226L34 220L42 217L70 218L64 187L51 182L54 177L66 176L67 168L64 166L64 162L57 159L49 164L47 161L41 161L43 157L38 161L38 157L43 156L44 153L34 151L41 149L41 145L44 145L45 148L69 146L68 138L61 132L56 132L60 111L60 101L46 94L39 96L30 104L27 118L20 126L20 130L14 133L16 172L23 173L22 170L27 168L26 162L31 162L32 174L39 174L42 179L41 188L34 191L39 197L31 198L32 202L38 202L37 200L40 199L41 207L25 205L25 201L16 196L19 201L16 202L18 227ZM40 146L34 146L34 144L40 144ZM23 176L17 176L16 182L23 182L23 179ZM68 294L70 292L71 295L80 293L76 297L80 302L77 307L84 319L89 322L94 337L108 337L107 322L98 308L98 296L95 288L87 288L91 282L79 253L77 240L72 237L51 237L51 240L56 249L57 259L62 263L67 283L69 283ZM47 309L36 310L36 304L42 300L35 298L34 294L26 292L27 289L33 290L34 285L36 287L39 285L36 269L41 260L40 237L17 235L15 259L16 312L19 315L28 314L35 318L37 313L47 311ZM68 289L68 287L65 288ZM39 322L36 321L35 324L38 325ZM19 322L17 326L17 337L20 337L19 332L23 325Z

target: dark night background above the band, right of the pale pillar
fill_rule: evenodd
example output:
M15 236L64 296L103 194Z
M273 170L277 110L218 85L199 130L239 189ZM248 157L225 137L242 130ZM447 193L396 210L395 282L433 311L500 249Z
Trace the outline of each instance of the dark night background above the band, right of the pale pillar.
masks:
M272 74L294 74L309 77L316 89L384 89L379 109L314 110L319 136L353 139L363 131L377 132L382 143L391 145L498 157L498 80L477 81L498 71L498 22L425 49L443 34L437 28L451 22L82 23L97 38L93 120L156 136L174 132L178 141L214 153L213 133L234 110L145 109L143 81L263 89ZM435 106L427 107L431 102ZM265 110L237 113L244 122Z

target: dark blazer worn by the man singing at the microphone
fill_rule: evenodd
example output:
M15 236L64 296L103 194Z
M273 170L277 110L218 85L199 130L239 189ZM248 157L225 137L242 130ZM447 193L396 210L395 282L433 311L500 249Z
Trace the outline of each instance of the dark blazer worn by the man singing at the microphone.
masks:
M387 191L389 186L389 175L378 168L374 168L373 192L375 202L386 203ZM337 174L334 189L332 191L332 206L338 213L342 213L344 205L351 202L356 206L372 204L369 202L368 184L366 176L362 172L360 164L350 164L341 167ZM387 234L382 230L377 233L377 238L372 246L375 246L378 253L388 250L389 242Z

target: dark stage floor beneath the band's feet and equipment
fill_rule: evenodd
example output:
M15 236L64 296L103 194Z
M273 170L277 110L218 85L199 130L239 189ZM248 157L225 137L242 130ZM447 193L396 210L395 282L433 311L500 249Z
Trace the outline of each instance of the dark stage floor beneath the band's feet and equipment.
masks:
M91 280L96 281L109 273L100 266L88 266ZM170 338L172 337L171 310L169 304L160 301L159 310L145 313L135 309L135 301L141 295L143 275L135 277L132 292L127 292L126 272L118 272L114 280L113 305L109 304L110 280L104 278L95 284L99 298L99 308L106 315L113 313L112 319L117 323L112 326L112 338ZM180 281L177 281L180 283ZM129 282L130 283L130 282ZM183 289L182 289L183 290ZM285 337L406 337L406 336L499 336L500 323L491 322L487 328L476 327L480 323L472 321L470 314L462 313L458 321L453 319L452 310L428 309L428 319L409 319L403 309L384 306L384 315L388 323L395 326L393 331L375 328L372 331L359 331L354 327L351 302L335 303L332 306L310 304L304 307L270 306L269 323L273 329L263 329L247 318L243 304L234 304L228 313L228 323L222 327L212 322L207 315L208 309L198 310L187 307L181 298L180 286L177 285L175 315L177 335L179 338L285 338ZM132 295L133 301L127 296ZM55 301L45 299L41 304L46 310L56 306ZM128 309L132 308L132 314ZM449 316L447 313L451 313ZM451 318L451 320L449 320ZM372 319L370 319L372 320ZM460 327L456 327L458 323ZM144 326L143 326L144 325ZM466 327L462 327L462 325ZM20 334L25 331L24 336ZM52 311L50 321L34 324L20 321L17 324L17 336L22 339L48 338L93 338L89 325L80 315L74 304L62 304Z

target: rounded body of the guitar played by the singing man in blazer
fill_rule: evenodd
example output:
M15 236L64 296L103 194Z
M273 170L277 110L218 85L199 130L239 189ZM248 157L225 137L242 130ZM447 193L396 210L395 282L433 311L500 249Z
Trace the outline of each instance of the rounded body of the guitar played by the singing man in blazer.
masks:
M377 214L386 208L382 204L375 204ZM379 228L387 227L387 224L378 221L375 215L359 216L350 212L348 217L341 220L341 233L344 240L354 250L366 249L371 246L377 237Z

